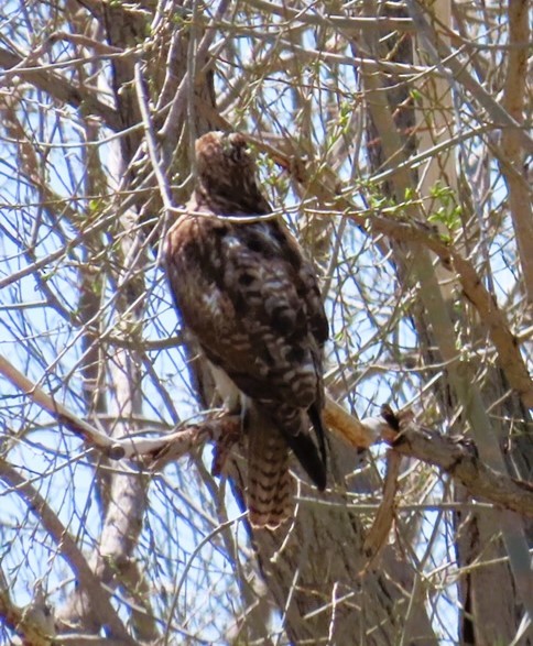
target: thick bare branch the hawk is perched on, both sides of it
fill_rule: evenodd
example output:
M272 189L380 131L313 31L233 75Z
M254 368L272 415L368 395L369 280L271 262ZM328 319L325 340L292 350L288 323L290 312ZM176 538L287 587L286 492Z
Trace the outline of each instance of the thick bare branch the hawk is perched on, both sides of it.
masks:
M7 370L10 366L10 370ZM41 388L21 375L0 357L0 374L21 387L29 397L40 404L69 430L89 446L107 452L112 458L135 458L151 469L162 469L171 461L199 448L207 441L217 441L239 427L239 417L222 415L207 418L205 423L183 427L173 434L157 437L126 437L110 439L86 421L56 405ZM17 377L17 379L14 379ZM20 379L22 377L22 379ZM326 401L325 423L329 430L353 448L368 448L380 439L398 452L434 464L459 480L474 497L486 499L508 510L533 517L533 484L509 478L488 467L478 456L474 442L443 436L425 428L407 427L399 434L394 417L370 417L358 420L336 404Z

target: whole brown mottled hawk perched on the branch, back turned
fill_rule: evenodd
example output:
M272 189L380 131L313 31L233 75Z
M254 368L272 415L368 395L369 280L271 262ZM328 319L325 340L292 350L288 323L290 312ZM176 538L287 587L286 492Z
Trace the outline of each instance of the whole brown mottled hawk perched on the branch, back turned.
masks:
M260 218L271 208L244 136L205 134L196 142L196 163L187 213L167 234L166 271L226 406L242 413L250 522L274 528L292 510L290 449L316 486L326 486L327 319L296 241L278 220Z

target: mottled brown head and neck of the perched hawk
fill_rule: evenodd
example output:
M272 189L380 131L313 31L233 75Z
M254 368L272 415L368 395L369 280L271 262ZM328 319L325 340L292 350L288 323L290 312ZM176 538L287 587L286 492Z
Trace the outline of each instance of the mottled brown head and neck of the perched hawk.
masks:
M221 215L261 215L270 207L255 179L255 161L240 132L208 132L196 142L197 188Z

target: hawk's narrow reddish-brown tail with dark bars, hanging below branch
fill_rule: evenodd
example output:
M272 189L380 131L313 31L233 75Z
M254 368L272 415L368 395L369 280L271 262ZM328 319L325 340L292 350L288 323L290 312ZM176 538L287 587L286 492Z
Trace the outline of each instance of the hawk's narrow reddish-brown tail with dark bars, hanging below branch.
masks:
M278 428L257 410L248 424L249 519L253 527L275 529L291 517L294 505L289 446Z

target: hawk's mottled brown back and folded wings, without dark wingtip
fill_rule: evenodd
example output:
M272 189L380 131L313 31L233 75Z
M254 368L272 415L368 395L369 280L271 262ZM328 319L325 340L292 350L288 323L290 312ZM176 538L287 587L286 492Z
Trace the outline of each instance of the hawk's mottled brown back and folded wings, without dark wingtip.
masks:
M187 216L168 233L166 265L185 322L242 392L297 408L320 399L327 319L313 270L276 222Z

